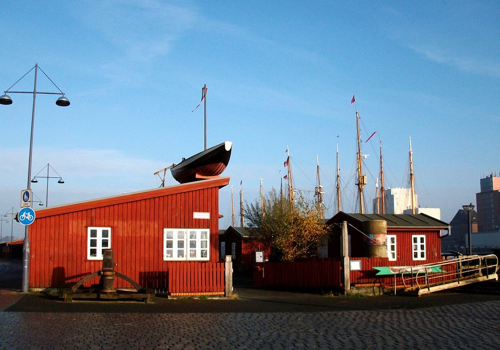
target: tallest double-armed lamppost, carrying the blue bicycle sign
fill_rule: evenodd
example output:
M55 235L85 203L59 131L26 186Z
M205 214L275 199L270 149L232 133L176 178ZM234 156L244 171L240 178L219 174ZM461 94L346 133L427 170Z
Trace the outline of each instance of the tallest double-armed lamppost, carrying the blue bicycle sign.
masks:
M11 91L11 89L16 85L21 79L26 77L28 73L26 73L24 76L21 77L16 83L14 83L13 86L11 86L9 89L4 91L4 95L0 96L0 104L2 105L11 105L12 104L12 99L7 93L11 94L33 94L33 111L31 115L31 136L30 136L30 157L28 161L28 186L27 189L31 188L31 164L32 164L32 158L33 158L33 130L35 127L35 102L37 101L37 94L45 94L45 95L62 95L60 98L56 100L56 105L61 106L61 107L67 107L70 105L70 100L68 100L65 96L64 93L59 89L59 87L54 84L51 78L45 72L42 71L42 73L51 81L51 83L59 90L59 92L38 92L37 91L37 77L38 77L38 70L40 68L38 67L38 64L35 64L35 67L33 67L31 70L28 71L30 73L31 71L35 70L35 85L33 88L33 91ZM28 235L28 225L25 226L25 240L23 244L23 289L22 291L24 293L27 293L29 291L29 274L30 274L30 238Z

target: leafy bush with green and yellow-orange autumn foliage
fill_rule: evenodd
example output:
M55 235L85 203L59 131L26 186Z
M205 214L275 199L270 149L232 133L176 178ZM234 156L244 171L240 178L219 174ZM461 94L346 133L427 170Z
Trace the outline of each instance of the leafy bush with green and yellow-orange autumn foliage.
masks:
M327 235L315 203L300 196L294 203L274 188L259 201L246 203L245 220L271 247L271 261L317 256L317 242Z

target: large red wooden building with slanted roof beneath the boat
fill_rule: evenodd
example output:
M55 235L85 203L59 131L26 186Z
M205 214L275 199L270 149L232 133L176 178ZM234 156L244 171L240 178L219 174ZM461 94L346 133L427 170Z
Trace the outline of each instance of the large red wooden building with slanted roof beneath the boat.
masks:
M102 250L113 248L116 271L143 287L224 294L219 189L228 183L218 177L37 210L29 230L30 288L71 286L100 270Z

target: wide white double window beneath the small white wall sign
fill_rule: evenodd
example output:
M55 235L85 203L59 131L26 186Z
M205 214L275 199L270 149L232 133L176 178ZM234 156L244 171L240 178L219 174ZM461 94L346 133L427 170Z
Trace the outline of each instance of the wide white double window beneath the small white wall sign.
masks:
M165 228L163 260L209 260L208 228Z

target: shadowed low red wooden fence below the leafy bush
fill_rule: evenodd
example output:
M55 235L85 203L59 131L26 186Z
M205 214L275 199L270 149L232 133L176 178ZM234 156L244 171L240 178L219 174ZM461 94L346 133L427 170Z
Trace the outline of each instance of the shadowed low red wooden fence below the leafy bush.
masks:
M254 284L276 287L339 287L340 261L312 259L257 264Z

